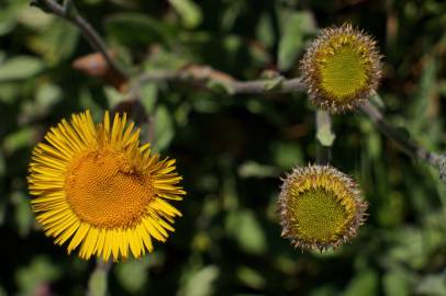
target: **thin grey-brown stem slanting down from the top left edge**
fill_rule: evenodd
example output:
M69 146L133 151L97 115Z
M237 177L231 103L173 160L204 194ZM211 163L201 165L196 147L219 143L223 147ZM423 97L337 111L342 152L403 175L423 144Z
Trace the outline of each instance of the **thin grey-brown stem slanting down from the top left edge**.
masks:
M107 45L102 41L101 36L94 31L94 29L79 14L73 0L65 0L64 5L58 4L54 0L31 0L31 5L35 5L44 10L45 12L54 13L55 15L65 19L74 23L79 27L83 37L88 41L90 46L96 50L101 53L110 67L123 77L127 77L124 70L118 66L113 60L109 52L107 50Z

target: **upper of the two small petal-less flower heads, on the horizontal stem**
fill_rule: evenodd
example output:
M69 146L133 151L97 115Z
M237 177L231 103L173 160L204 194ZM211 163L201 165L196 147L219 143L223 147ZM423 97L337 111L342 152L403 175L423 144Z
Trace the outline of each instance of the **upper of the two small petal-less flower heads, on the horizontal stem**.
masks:
M376 42L350 24L323 30L300 67L311 102L331 113L356 109L378 89L380 59Z

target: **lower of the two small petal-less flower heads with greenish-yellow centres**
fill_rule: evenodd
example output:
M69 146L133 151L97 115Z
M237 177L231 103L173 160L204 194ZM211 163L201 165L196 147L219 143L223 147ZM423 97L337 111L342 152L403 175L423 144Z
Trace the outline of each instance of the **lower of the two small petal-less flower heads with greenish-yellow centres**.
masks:
M296 168L279 197L282 237L311 250L336 248L356 236L367 203L355 182L332 167Z

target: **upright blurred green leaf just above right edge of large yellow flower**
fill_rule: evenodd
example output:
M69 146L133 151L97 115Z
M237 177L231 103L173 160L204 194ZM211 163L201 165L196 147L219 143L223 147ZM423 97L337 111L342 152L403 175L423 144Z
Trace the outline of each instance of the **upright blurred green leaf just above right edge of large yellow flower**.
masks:
M155 113L155 140L154 148L164 150L174 139L174 122L170 112L166 106L159 105Z

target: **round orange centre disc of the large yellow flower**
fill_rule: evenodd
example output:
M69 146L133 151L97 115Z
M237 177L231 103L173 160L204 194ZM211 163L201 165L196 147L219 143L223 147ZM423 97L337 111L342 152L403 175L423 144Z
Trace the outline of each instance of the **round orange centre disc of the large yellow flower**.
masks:
M152 177L111 148L86 151L67 168L66 198L80 220L99 228L129 228L154 197Z

